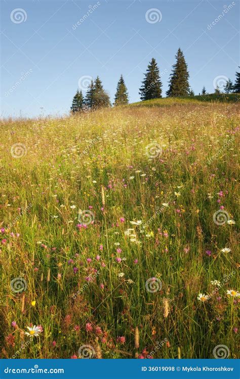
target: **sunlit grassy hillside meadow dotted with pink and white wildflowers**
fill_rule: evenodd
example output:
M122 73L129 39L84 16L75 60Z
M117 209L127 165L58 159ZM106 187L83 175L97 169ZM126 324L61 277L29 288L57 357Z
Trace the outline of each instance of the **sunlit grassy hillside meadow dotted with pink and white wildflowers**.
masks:
M1 121L1 358L237 357L239 106L148 105Z

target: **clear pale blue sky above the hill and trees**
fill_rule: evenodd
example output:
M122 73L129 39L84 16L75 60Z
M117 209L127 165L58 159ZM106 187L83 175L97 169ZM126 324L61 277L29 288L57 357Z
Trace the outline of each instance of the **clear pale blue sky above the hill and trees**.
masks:
M0 1L2 117L66 114L78 84L97 75L111 101L121 74L130 102L139 101L152 57L165 96L179 47L195 94L235 78L237 0Z

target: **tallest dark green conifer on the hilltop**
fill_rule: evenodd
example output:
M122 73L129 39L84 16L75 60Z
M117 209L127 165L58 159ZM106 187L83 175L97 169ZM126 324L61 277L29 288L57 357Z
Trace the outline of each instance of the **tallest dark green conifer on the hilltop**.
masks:
M167 96L188 96L189 94L189 73L187 71L187 64L181 49L178 49L175 56L177 62L173 65L173 72L170 75L169 89Z

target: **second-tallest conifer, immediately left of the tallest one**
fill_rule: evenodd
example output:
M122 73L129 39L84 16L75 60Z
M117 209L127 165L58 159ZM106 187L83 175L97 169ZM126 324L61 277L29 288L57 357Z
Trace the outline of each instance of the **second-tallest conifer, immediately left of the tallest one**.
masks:
M154 58L147 66L145 78L142 81L142 86L139 88L141 100L150 100L162 98L162 82L159 75L159 68Z

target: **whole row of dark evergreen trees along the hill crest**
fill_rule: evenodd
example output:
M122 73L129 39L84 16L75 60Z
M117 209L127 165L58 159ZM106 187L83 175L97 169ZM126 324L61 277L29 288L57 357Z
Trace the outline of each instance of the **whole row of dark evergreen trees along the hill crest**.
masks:
M175 56L176 63L172 66L172 73L170 74L169 89L166 94L167 97L186 97L194 96L193 90L189 86L189 73L183 52L179 48ZM235 83L233 84L230 79L226 81L224 91L226 93L240 92L240 73L235 73ZM162 81L159 68L156 60L151 59L147 66L146 73L142 85L139 88L140 99L151 100L162 98ZM221 93L219 86L215 88L215 93ZM207 94L205 86L202 89L202 95ZM128 89L126 87L123 75L119 78L114 97L114 106L126 105L129 103ZM82 90L77 90L72 100L71 112L81 112L83 110L94 110L102 107L110 107L110 97L103 88L102 82L97 76L95 80L91 80L86 96L84 98Z

